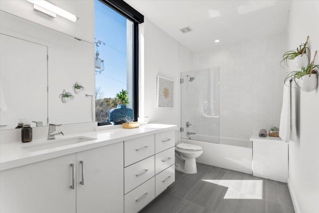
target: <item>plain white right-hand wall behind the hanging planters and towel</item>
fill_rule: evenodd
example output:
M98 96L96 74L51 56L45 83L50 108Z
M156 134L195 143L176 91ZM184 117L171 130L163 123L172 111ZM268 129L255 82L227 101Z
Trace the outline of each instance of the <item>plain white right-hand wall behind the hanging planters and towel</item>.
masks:
M289 19L289 49L310 36L312 58L319 50L319 1L293 1ZM300 15L306 14L306 15ZM318 58L317 58L318 64ZM296 213L319 210L319 89L301 91L300 140L289 143L288 186Z

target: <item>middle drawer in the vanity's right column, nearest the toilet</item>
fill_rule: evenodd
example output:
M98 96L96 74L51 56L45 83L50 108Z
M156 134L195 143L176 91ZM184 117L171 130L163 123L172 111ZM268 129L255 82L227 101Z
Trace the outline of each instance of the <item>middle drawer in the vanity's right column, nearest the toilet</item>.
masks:
M175 149L174 147L162 151L155 155L155 174L160 173L164 169L175 164Z

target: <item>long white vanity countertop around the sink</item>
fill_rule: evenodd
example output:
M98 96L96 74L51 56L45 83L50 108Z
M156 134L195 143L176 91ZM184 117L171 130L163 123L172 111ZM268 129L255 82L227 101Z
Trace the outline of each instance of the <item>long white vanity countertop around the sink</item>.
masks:
M101 146L107 146L118 142L123 142L126 140L139 138L159 132L164 132L168 130L175 130L177 126L175 125L165 125L165 124L146 124L141 125L139 128L134 129L123 129L115 128L102 131L94 132L83 132L72 135L65 136L55 136L56 139L66 139L74 137L89 137L96 140L81 142L77 144L66 145L62 147L50 148L46 150L40 150L36 152L30 152L23 147L30 146L36 143L48 142L46 138L33 140L29 143L5 143L0 145L0 171L7 170L27 164L36 163L39 161L44 161L64 155L69 155L89 149L94 149Z

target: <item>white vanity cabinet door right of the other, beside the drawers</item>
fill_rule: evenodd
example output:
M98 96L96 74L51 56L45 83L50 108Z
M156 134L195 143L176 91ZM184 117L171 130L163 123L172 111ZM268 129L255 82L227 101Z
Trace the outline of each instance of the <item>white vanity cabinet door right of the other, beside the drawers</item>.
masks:
M122 142L76 154L77 213L124 212L123 150Z

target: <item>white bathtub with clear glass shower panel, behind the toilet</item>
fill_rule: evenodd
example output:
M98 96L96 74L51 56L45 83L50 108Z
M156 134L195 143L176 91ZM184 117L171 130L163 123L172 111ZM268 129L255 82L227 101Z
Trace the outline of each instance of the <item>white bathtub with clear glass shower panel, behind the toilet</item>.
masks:
M252 174L252 142L220 137L219 67L182 72L181 79L179 143L202 147L196 162Z

